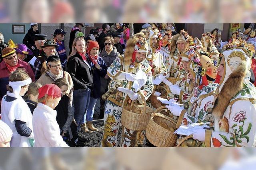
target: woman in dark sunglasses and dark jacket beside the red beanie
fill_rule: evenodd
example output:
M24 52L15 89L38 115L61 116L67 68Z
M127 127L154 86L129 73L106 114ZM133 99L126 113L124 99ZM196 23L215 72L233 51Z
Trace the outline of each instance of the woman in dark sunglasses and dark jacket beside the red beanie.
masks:
M107 36L104 38L104 49L100 53L100 57L104 60L106 63L107 67L109 67L114 59L118 57L120 53L117 52L116 47L114 47L114 38ZM106 91L108 91L108 84L110 82L110 78L108 75L106 75L104 78L100 78L101 81L101 89L100 93L101 95L104 94ZM100 116L99 119L103 119L104 117L104 108L105 108L105 101L100 98Z

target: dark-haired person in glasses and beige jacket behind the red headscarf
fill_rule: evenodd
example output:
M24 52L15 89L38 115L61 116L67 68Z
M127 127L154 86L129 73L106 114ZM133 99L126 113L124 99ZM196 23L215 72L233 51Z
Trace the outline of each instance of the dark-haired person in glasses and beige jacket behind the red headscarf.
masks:
M62 70L60 57L56 55L51 55L50 57L48 57L47 63L48 63L48 68L47 68L48 71L42 74L42 76L40 76L37 82L40 83L42 86L44 86L46 84L52 84L58 78L64 78L68 82L67 94L68 94L68 97L70 98L70 106L72 106L74 85L73 85L73 81L70 74Z

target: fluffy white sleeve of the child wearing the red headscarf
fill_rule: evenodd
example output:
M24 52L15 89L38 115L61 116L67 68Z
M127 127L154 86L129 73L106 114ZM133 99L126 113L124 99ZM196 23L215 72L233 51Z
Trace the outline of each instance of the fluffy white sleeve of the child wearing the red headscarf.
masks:
M68 147L68 145L63 141L60 136L60 128L59 126L54 126L57 122L56 120L47 119L44 121L43 133L44 137L47 139L51 147Z

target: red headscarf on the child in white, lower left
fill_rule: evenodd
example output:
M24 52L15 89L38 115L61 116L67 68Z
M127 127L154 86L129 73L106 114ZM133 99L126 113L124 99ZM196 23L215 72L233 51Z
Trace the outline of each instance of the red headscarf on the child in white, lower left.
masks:
M52 98L61 97L61 90L55 84L46 84L38 89L38 99L43 98L46 94Z

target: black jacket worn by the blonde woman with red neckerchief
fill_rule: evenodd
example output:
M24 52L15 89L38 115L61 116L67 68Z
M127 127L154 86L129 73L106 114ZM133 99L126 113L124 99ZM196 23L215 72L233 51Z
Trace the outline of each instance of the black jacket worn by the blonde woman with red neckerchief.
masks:
M74 90L78 90L78 89L84 90L87 87L92 89L93 70L92 70L92 67L90 66L90 63L84 62L82 57L78 53L76 53L76 55L73 55L68 59L67 67L68 67L68 73L70 74L74 83Z

